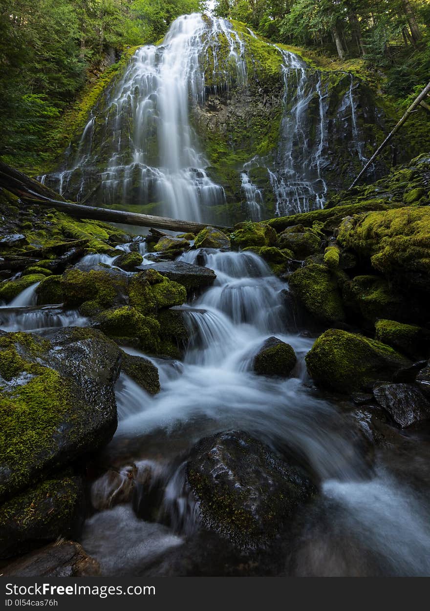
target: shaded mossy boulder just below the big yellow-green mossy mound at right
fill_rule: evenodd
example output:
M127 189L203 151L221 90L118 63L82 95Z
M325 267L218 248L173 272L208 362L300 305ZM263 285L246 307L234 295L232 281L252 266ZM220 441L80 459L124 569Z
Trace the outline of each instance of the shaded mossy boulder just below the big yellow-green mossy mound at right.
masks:
M405 309L398 291L380 276L355 276L345 282L343 299L352 312L371 323L386 316L397 318Z

